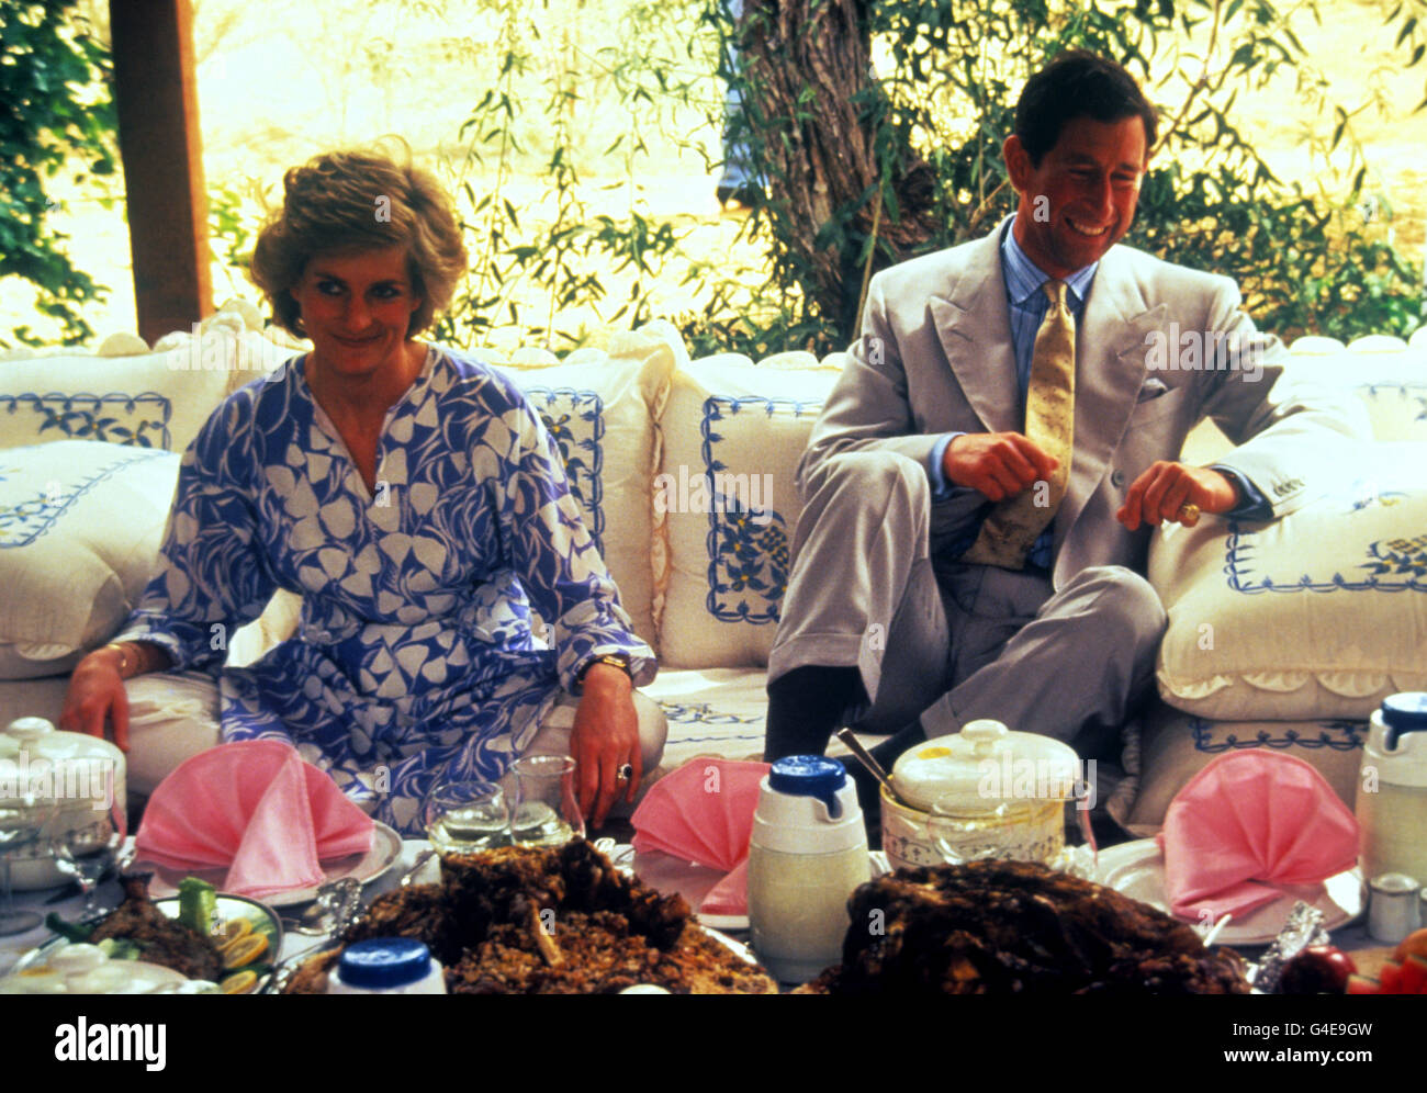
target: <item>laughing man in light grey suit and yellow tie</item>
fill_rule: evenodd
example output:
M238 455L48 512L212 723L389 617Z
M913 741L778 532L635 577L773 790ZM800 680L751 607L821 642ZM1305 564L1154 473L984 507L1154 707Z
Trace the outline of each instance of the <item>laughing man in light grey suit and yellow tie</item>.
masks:
M1063 54L1003 144L1015 215L873 278L799 465L765 758L850 723L889 766L985 716L1096 755L1153 679L1152 529L1307 499L1347 425L1273 390L1230 280L1116 245L1154 136L1123 68ZM1241 447L1176 462L1206 415Z

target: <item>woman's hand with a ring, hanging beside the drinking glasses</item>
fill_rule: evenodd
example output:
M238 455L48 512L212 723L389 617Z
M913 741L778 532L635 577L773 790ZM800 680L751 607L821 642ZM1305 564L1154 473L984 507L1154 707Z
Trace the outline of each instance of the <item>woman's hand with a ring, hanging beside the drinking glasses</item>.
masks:
M584 696L569 732L569 753L575 756L575 792L579 810L591 828L602 828L609 808L625 795L634 802L644 778L639 748L639 715L635 713L634 683L608 664L594 664L585 672ZM624 781L619 768L628 763L634 775Z

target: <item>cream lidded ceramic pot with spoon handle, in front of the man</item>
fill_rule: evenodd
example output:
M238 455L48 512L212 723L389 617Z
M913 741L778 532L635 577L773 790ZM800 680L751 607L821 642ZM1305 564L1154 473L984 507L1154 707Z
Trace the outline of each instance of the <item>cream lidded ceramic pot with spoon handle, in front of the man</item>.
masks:
M973 721L903 753L882 790L882 848L893 868L1007 858L1057 865L1065 803L1080 759L1067 745Z

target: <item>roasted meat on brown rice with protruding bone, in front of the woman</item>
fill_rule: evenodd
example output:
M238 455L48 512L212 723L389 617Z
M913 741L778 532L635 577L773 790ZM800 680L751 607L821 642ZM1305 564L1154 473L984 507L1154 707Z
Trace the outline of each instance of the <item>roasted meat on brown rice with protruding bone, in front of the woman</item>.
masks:
M342 935L418 937L451 995L771 993L773 980L709 937L682 896L662 896L584 839L441 859L440 885L378 896ZM324 993L338 953L307 963L290 993Z

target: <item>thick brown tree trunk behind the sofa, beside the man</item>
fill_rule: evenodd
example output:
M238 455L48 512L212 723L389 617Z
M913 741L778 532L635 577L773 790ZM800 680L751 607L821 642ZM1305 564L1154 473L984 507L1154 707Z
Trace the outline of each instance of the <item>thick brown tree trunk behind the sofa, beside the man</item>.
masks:
M806 317L849 338L873 225L873 270L933 234L932 168L882 126L865 0L746 0L736 41L745 137L781 240L775 263L802 284ZM889 157L896 215L878 188Z

